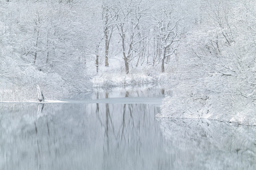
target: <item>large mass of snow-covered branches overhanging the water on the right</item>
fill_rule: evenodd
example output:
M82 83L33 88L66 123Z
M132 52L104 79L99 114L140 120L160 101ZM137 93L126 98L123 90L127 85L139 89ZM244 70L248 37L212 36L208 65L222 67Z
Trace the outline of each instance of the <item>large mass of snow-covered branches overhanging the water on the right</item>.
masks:
M206 1L200 8L201 22L177 50L176 72L168 80L173 96L166 97L163 114L251 124L256 117L255 45L248 19L254 12L246 3L226 0Z

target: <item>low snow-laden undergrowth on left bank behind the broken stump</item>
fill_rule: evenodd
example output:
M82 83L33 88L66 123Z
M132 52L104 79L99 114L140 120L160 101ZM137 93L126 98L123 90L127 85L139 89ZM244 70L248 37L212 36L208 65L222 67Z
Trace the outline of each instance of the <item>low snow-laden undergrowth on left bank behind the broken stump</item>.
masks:
M34 65L9 64L10 73L0 80L0 101L38 101L36 85L39 85L47 99L60 99L70 94L91 91L92 82L88 76L65 76L57 71L39 71ZM72 73L72 72L70 72ZM80 81L79 81L80 79Z

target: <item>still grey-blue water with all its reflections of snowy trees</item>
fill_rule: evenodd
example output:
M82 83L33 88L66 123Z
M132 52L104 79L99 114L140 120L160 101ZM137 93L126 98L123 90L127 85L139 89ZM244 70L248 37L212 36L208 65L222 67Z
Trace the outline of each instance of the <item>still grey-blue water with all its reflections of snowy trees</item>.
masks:
M256 168L256 127L156 119L163 94L157 84L98 88L69 103L0 103L0 169Z

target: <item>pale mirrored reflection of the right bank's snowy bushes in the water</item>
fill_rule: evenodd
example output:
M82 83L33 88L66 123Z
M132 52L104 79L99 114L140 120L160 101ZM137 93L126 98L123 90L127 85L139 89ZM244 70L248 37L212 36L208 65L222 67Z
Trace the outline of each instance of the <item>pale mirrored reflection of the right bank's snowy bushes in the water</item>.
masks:
M178 169L256 168L256 127L207 119L162 119L160 126Z

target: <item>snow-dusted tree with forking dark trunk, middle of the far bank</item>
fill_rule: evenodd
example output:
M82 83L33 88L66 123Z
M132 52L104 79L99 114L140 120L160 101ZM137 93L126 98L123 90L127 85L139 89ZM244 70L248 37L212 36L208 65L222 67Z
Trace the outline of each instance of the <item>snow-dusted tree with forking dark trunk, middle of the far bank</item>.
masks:
M118 10L118 34L121 38L122 53L125 64L126 74L129 73L129 62L136 55L144 50L142 41L147 37L144 36L143 17L145 9L140 7L140 3L128 2Z

